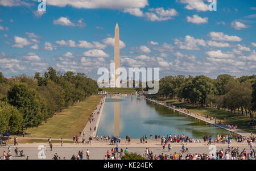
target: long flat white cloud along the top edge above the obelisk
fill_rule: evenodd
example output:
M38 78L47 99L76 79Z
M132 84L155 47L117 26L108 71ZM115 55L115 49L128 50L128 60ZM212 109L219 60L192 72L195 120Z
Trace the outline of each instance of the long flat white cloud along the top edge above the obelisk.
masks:
M144 8L148 5L147 0L47 0L47 5L64 7L71 5L78 9L130 9Z

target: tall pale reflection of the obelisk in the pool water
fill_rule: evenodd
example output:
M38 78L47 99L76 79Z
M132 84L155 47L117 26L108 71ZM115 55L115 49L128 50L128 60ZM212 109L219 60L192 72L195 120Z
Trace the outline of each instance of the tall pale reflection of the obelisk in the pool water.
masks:
M117 102L114 102L114 136L119 136L120 102L119 95L114 96Z

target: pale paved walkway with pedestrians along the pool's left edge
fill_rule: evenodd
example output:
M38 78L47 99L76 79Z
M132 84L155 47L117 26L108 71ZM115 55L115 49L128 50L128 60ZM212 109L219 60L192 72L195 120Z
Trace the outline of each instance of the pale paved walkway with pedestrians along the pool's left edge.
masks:
M103 110L104 104L105 104L105 99L106 99L106 96L101 98L101 101L97 105L97 109L94 110L94 119L95 120L92 122L89 122L89 120L88 120L86 126L84 127L84 130L82 130L82 132L85 132L85 136L83 136L83 134L81 132L80 140L81 140L81 137L85 137L85 139L88 139L90 134L92 134L92 136L94 136L94 135L96 136L96 133L98 130L98 123L100 123L102 110ZM101 103L102 103L102 105L101 105ZM99 113L97 114L97 112L99 112ZM94 131L94 127L96 127L95 131ZM92 128L92 131L90 131L90 128Z

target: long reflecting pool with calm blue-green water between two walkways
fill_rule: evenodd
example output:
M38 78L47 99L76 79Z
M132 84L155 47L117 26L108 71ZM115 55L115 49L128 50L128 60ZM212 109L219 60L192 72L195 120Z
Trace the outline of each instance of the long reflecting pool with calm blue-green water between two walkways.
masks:
M141 138L143 135L186 135L202 139L203 135L229 135L199 119L156 105L138 96L108 95L97 135Z

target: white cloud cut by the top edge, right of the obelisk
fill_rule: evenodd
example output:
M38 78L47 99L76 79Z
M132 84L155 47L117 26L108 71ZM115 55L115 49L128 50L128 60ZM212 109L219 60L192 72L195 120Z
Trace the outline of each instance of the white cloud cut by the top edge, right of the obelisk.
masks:
M187 4L185 9L188 10L208 11L208 5L203 0L180 0L180 2Z

